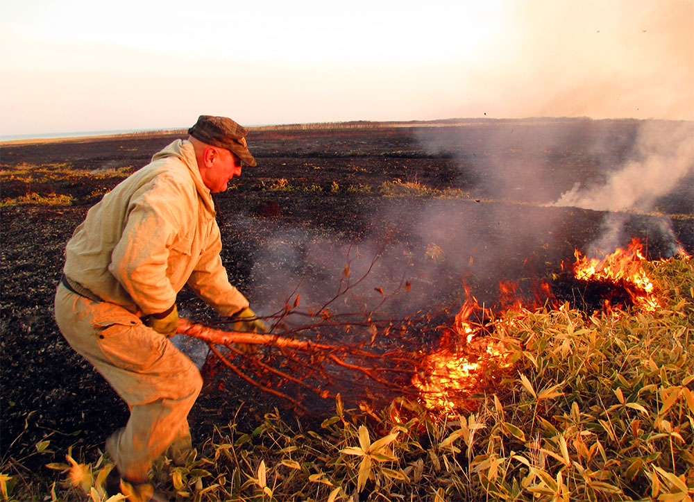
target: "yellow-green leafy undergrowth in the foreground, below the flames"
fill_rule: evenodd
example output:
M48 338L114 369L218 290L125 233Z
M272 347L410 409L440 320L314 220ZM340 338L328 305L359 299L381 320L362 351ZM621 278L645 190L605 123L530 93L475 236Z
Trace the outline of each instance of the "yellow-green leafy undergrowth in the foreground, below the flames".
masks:
M642 265L659 288L652 311L562 303L494 319L512 368L455 415L403 398L345 410L338 397L320 426L273 412L252 431L219 427L184 466L159 462L155 479L172 499L198 501L691 500L694 267ZM51 467L63 485L4 463L3 496L103 496L106 459Z

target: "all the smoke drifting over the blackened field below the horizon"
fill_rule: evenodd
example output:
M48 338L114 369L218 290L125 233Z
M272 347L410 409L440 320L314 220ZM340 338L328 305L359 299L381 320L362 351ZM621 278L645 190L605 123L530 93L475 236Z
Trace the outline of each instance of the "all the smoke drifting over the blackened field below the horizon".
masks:
M416 133L430 156L455 162L454 184L470 199L376 197L351 235L264 219L271 237L253 256L263 299L255 310L271 315L299 296L315 311L346 283L333 312L364 314L384 299L392 317L447 306L464 296L463 281L481 302L495 301L499 281L534 278L574 247L611 253L634 228L654 249L677 250L670 218L643 213L673 191L679 203L683 187L691 194L691 123L536 119ZM600 222L600 213L566 206L605 214Z

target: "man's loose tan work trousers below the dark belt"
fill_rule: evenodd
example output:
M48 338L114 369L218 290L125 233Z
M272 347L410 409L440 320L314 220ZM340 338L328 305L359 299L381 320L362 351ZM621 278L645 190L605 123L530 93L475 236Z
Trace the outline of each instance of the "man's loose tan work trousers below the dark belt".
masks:
M203 385L200 372L166 337L113 303L56 292L56 321L130 407L128 424L106 442L122 477L147 479L170 446L190 444L187 416Z

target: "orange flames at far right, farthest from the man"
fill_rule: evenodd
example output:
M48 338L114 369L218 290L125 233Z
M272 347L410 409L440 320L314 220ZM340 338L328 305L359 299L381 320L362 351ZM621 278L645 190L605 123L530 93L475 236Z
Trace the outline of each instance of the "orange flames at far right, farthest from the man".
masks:
M642 251L643 244L636 238L632 239L627 249L617 249L602 260L587 258L576 251L574 276L580 281L623 283L634 306L646 312L654 312L662 304L643 267L645 257Z

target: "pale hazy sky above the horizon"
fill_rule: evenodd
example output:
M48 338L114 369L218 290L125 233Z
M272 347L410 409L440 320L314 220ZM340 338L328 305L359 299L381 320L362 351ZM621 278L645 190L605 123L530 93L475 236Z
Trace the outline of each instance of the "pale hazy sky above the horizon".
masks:
M8 0L0 44L0 135L694 119L694 0Z

